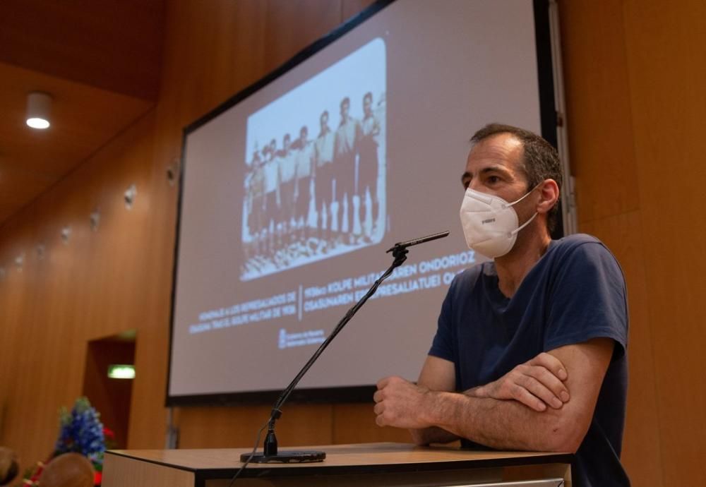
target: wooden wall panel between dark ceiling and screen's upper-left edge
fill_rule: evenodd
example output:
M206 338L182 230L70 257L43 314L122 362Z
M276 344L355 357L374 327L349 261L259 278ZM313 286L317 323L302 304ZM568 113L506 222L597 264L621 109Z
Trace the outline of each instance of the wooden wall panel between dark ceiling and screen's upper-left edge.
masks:
M259 0L169 4L160 131L180 138L182 127L263 75L265 11Z

